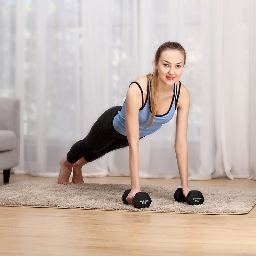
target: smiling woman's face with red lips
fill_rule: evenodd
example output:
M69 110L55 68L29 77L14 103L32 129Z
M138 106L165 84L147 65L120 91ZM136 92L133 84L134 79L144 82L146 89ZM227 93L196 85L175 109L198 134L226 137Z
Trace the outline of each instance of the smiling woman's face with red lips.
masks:
M158 69L158 82L167 85L175 84L180 79L183 65L184 55L182 52L178 50L163 51L158 65L155 65L155 68Z

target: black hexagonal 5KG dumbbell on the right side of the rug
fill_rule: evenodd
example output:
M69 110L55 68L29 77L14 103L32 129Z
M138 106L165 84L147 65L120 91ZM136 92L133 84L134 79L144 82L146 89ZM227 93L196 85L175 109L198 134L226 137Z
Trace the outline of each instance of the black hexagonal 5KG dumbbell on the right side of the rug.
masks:
M184 203L187 201L189 205L193 204L203 204L204 203L204 196L199 190L190 190L188 195L185 197L183 195L182 188L177 188L173 195L175 201L179 203Z

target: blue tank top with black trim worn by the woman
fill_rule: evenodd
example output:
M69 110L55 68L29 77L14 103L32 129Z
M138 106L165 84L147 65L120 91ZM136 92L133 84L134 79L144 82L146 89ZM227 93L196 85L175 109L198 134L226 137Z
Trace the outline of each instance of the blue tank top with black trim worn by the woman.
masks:
M148 78L148 80L149 80L149 78ZM147 87L147 98L146 98L145 104L143 105L144 100L143 100L143 91L141 89L141 86L136 81L133 81L132 83L136 83L139 86L141 94L142 94L142 107L139 109L139 128L140 128L140 138L141 138L141 137L149 135L153 132L156 132L158 129L160 129L162 124L168 123L172 119L174 112L176 110L176 105L177 105L178 99L179 99L180 86L179 86L178 95L177 95L176 83L173 86L173 97L172 97L172 102L170 104L169 110L164 115L160 115L160 116L155 115L151 126L149 128L145 128L149 124L151 114L152 114L151 109L150 109L149 85ZM129 85L129 87L130 87L130 85ZM151 81L150 81L150 87L151 87ZM125 107L126 107L126 99L124 101L122 109L120 111L118 111L117 115L113 119L113 126L114 126L115 130L117 132L123 134L124 136L126 136Z

